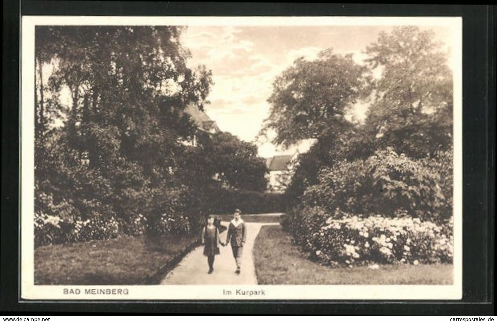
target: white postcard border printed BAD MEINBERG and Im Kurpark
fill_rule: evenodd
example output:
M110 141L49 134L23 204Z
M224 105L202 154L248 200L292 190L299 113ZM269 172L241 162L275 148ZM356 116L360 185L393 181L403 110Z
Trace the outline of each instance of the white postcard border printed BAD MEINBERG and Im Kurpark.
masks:
M34 285L34 29L36 25L418 25L453 30L454 272L452 285ZM461 17L130 17L21 18L20 178L21 300L458 300L462 298L462 18ZM65 289L68 294L64 294ZM97 291L92 291L97 289ZM92 294L102 291L110 294ZM124 294L124 290L126 293ZM241 295L237 290L254 292ZM73 293L70 294L70 290ZM79 294L75 294L79 290ZM87 291L89 290L89 291ZM115 290L115 291L113 291ZM117 294L121 290L121 294ZM255 294L262 290L263 294ZM229 291L230 293L226 293ZM115 292L116 294L112 294Z

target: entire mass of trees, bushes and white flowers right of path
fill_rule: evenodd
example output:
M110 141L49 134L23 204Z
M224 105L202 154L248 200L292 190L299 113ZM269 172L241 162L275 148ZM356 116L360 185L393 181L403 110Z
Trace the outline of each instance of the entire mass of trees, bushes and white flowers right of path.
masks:
M277 132L275 143L317 138L300 157L286 193L289 215L282 219L316 258L331 265L353 265L357 258L363 263L452 260L453 84L441 48L430 31L396 27L389 34L380 33L367 47L367 67L354 69L360 72L332 74L331 70L350 70L354 64L340 69L331 63L333 68L327 71L318 59L305 62L312 75L306 78L300 60L275 81L266 124L266 129ZM313 70L314 65L322 71ZM351 86L350 75L355 75L357 86ZM309 96L299 101L304 97L297 90L302 83L308 84ZM342 93L335 83L361 90L339 96L343 101L337 96L325 100L321 94L330 89ZM347 108L369 94L364 123L348 122ZM323 102L332 107L333 118L319 114L322 110L316 107ZM305 122L296 122L300 116ZM317 120L318 116L322 118ZM410 226L393 236L389 227L402 220L416 221L423 231ZM365 222L371 224L367 249L364 232L354 226ZM385 238L409 239L413 245L408 246L410 251L404 244L392 242L389 247Z

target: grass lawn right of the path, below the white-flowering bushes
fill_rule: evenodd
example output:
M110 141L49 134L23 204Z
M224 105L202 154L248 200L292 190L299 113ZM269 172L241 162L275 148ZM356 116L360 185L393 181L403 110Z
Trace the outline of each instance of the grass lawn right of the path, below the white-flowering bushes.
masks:
M453 265L380 265L330 268L313 262L292 244L281 226L262 226L253 250L259 284L452 284Z

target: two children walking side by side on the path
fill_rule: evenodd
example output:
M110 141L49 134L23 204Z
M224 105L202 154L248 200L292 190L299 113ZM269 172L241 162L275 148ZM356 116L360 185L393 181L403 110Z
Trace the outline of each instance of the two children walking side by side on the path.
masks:
M234 211L233 220L228 227L226 243L220 241L219 234L219 229L214 224L214 216L209 216L207 218L207 226L204 227L202 232L204 255L207 256L207 263L209 264L208 273L211 274L214 271L215 256L220 254L219 245L226 246L231 244L231 250L237 265L235 273L240 274L244 245L247 241L247 226L241 218L240 209L235 209Z

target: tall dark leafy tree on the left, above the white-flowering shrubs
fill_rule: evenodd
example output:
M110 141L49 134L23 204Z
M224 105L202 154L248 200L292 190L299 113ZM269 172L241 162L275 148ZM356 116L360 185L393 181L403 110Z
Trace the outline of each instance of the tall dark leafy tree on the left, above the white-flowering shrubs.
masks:
M71 200L84 216L106 207L122 218L164 211L182 184L171 171L185 154L180 140L194 129L182 109L202 108L211 85L209 71L187 67L180 32L171 26L37 27L36 144L64 157L55 168L38 157L35 175L55 203ZM50 69L47 81L43 71ZM70 96L67 110L63 95ZM57 102L54 119L64 120L52 131L49 99Z

